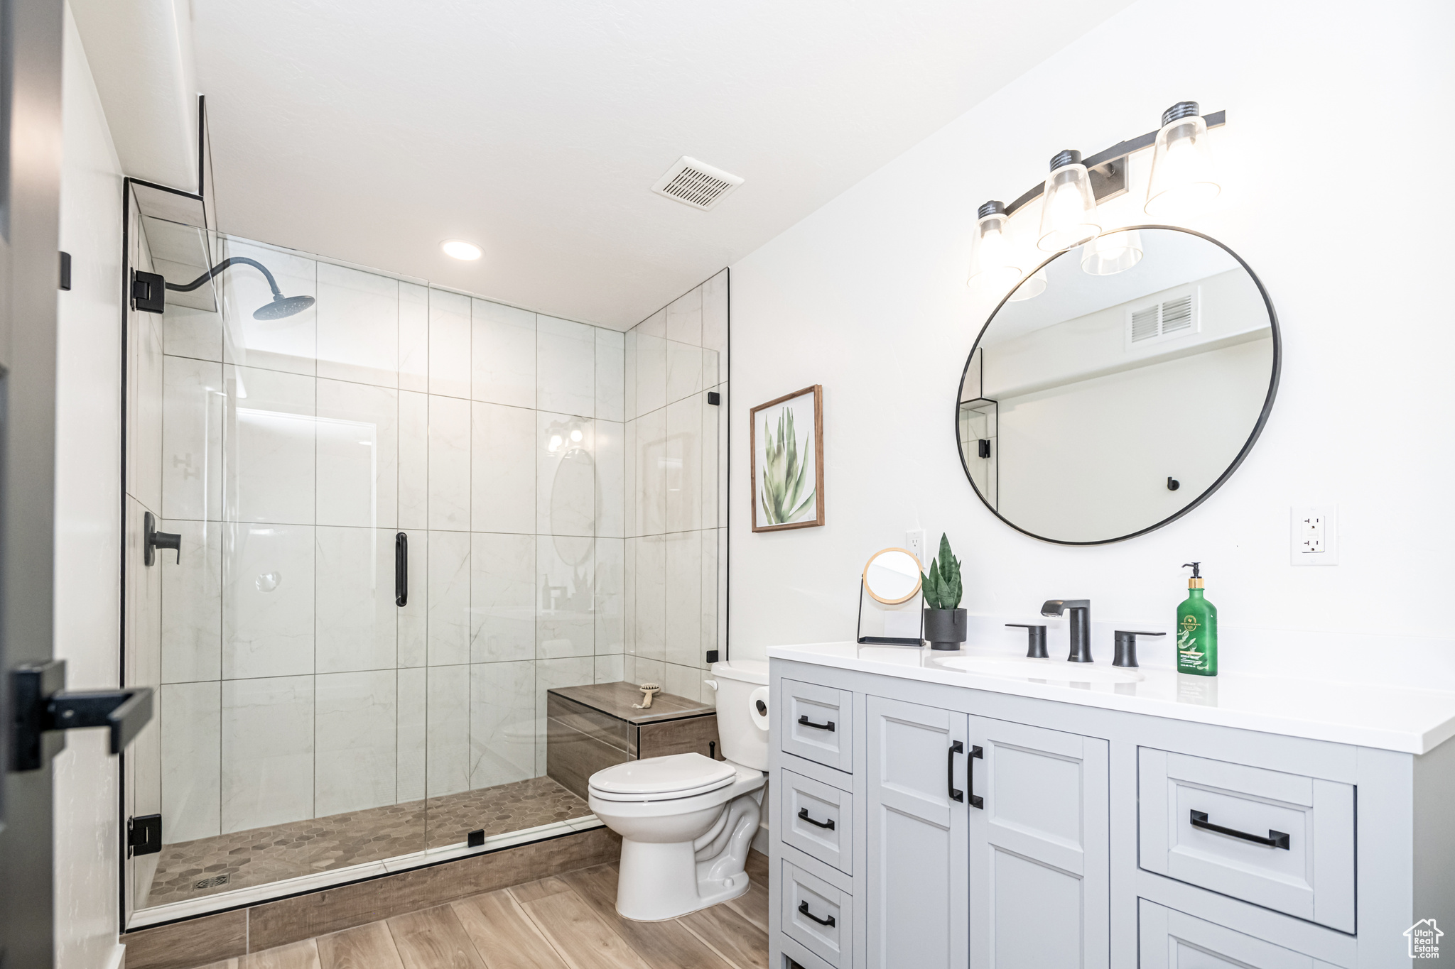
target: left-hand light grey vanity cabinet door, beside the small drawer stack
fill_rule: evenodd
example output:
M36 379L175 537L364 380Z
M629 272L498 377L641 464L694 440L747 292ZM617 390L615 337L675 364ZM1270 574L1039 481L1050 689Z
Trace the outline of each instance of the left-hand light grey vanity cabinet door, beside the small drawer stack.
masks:
M880 696L867 716L869 969L965 969L968 718Z

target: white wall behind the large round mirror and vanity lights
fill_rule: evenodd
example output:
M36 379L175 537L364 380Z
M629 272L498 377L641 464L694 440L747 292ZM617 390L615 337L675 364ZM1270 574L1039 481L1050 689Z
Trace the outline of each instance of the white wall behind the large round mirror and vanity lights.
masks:
M1452 17L1433 0L1142 0L733 266L733 655L851 638L864 561L922 526L931 543L949 532L968 609L1090 597L1103 655L1100 620L1170 626L1180 565L1200 559L1225 670L1327 665L1347 645L1376 662L1346 676L1423 655L1438 668L1422 681L1455 686L1439 607L1455 578L1455 196L1427 180L1455 148L1435 121L1455 93ZM960 368L991 307L963 285L975 208L1024 192L1055 151L1100 151L1189 97L1229 119L1213 132L1219 208L1192 227L1267 286L1279 400L1238 474L1186 519L1107 546L1037 542L991 516L954 450ZM1109 221L1141 221L1139 166ZM815 382L828 523L752 535L748 408ZM1337 567L1289 565L1295 503L1339 504Z

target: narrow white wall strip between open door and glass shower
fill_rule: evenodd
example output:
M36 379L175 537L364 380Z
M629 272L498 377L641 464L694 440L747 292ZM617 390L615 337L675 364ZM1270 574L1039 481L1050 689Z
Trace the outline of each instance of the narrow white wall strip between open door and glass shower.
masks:
M121 164L76 23L65 12L57 298L55 655L68 686L118 683L121 484ZM71 731L55 758L55 965L96 969L116 944L116 758L105 731Z

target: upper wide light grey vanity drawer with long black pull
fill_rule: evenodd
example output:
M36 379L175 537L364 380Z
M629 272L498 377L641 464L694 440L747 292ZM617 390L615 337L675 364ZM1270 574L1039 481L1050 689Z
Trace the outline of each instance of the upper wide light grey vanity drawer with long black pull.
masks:
M1355 931L1352 784L1149 747L1136 760L1144 869Z

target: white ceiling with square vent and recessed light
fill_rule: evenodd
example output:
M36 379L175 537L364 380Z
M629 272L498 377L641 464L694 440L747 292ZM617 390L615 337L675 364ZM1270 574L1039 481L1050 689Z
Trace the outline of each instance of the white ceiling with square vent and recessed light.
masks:
M195 0L218 222L624 330L1129 1Z

